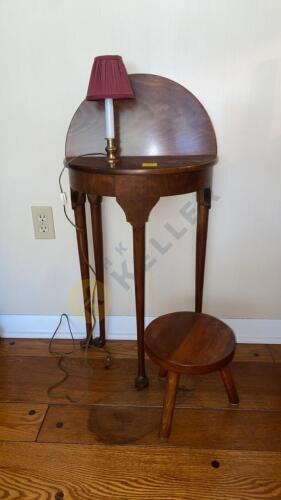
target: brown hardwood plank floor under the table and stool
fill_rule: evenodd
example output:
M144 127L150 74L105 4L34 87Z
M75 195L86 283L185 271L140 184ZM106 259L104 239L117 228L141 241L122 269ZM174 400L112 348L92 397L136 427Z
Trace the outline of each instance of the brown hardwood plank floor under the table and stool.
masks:
M157 367L147 361L138 392L135 343L108 348L109 369L99 350L87 366L83 351L69 356L48 394L63 375L48 342L0 341L0 498L281 499L281 346L238 345L238 408L219 374L183 377L164 444Z

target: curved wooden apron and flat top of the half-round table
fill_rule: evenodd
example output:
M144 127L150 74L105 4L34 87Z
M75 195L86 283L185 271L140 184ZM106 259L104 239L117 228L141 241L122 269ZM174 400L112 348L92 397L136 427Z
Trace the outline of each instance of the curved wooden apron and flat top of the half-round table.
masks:
M136 160L137 165L140 166L143 162L158 161L159 159L146 156L123 157L114 168L110 168L104 158L86 157L69 160L71 186L81 193L114 196L121 201L124 198L136 205L133 197L134 191L132 193L133 189L137 198L144 199L145 203L147 203L146 200L150 201L150 210L153 207L152 202L154 201L155 204L160 196L193 193L211 186L214 160L209 159L204 165L196 165L189 157L177 158L171 171L164 168L166 165L164 160L159 162L159 170L157 170L158 167L154 169L143 168L141 171L134 170ZM126 171L124 172L123 166L125 165ZM136 206L136 211L137 208ZM145 205L145 209L147 210L147 205ZM146 212L147 218L149 211Z

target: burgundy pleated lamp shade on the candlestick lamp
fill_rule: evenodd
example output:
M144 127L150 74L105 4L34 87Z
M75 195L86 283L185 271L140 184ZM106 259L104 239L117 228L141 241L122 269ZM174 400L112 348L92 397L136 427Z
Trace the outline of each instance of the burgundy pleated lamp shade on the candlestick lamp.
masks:
M132 99L133 89L121 56L98 56L92 67L87 101Z

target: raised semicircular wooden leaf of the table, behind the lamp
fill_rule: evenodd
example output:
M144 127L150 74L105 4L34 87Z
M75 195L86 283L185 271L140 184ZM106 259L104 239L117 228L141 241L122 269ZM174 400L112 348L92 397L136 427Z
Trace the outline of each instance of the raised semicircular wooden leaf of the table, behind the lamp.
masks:
M157 75L130 75L136 99L115 101L121 156L209 154L217 145L210 118L186 88ZM104 152L104 103L83 101L66 139L66 156Z

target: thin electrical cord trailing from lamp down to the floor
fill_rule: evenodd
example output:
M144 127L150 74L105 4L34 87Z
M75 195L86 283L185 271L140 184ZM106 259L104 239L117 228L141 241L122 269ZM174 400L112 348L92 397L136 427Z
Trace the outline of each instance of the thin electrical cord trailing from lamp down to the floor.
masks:
M91 298L91 312L92 312L92 320L93 320L93 325L92 325L92 330L90 332L90 334L87 335L87 338L86 338L86 343L85 343L85 351L84 351L84 367L85 366L88 366L88 350L91 349L91 348L96 348L96 346L94 345L90 345L90 341L92 339L92 334L94 332L94 329L95 329L95 326L96 326L96 316L95 316L95 311L94 311L94 301L95 301L95 295L96 295L96 290L97 290L97 281L96 281L96 272L94 270L94 268L91 266L91 264L89 263L85 253L84 253L84 249L83 249L83 245L82 245L82 233L84 232L84 228L80 228L78 227L75 222L73 222L71 220L71 218L68 216L67 214L67 211L66 211L66 204L67 204L67 198L66 198L66 194L63 190L63 186L62 186L62 176L63 176L63 173L66 169L66 167L68 165L70 165L71 161L73 160L77 160L79 158L82 158L82 157L85 157L85 156L106 156L106 154L104 153L88 153L88 154L84 154L84 155L79 155L79 156L76 156L75 158L71 158L68 162L66 160L64 160L64 166L60 172L60 175L59 175L59 188L60 188L60 196L61 196L61 200L63 202L63 211L64 211L64 215L67 219L67 221L76 229L77 231L77 236L78 236L78 239L79 239L79 247L80 247L80 250L81 250L81 254L82 254L82 257L83 257L83 260L84 262L87 264L87 266L89 267L90 271L92 272L94 278L95 278L95 284L94 284L94 288L93 288L93 291L92 291L92 298ZM55 351L53 349L53 343L54 343L54 340L55 340L55 336L57 334L57 332L59 331L59 328L62 324L62 320L63 318L66 319L67 321L67 324L68 324L68 329L69 329L69 332L70 332L70 335L71 335L71 339L72 339L72 350L71 351L68 351L68 352L61 352L61 351ZM57 389L59 386L61 386L68 378L69 378L69 372L68 370L66 369L66 367L64 366L64 358L67 357L67 356L70 356L71 354L74 354L75 351L81 349L80 348L76 348L75 346L75 341L74 341L74 337L73 337L73 332L72 332L72 329L71 329L71 325L70 325L70 321L69 321L69 317L68 317L68 314L66 313L62 313L61 314L61 317L60 317L60 320L59 320L59 323L51 337L51 340L49 342L49 353L53 356L59 356L59 361L58 361L58 368L64 373L63 375L63 378L61 380L59 380L58 382L52 384L48 390L47 390L47 394L48 396L52 397L52 398L56 398L56 399L61 399L63 397L65 397L68 401L70 401L71 403L79 403L81 401L81 399L83 398L83 395L81 396L81 398L79 400L74 400L73 398L71 398L71 396L69 396L68 394L57 394L57 395L53 395L52 392L54 389ZM101 349L100 347L98 347L98 349ZM103 352L106 353L106 358L105 358L105 361L104 361L104 368L105 369L108 369L111 364L112 364L112 354L109 350L107 350L106 348L102 348Z

